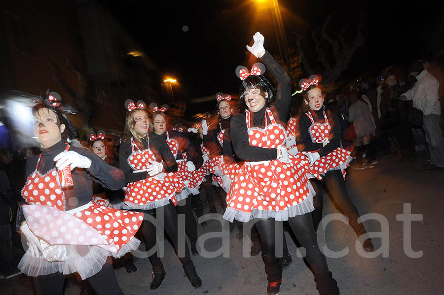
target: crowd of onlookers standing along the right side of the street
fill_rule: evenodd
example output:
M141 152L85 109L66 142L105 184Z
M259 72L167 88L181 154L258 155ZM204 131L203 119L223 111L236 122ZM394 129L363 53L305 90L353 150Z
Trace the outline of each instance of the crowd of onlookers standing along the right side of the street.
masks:
M436 63L420 59L407 72L392 66L327 95L326 104L341 121L342 144L358 161L355 169L371 168L387 153L413 163L418 152L427 151L424 167L444 169L443 79Z

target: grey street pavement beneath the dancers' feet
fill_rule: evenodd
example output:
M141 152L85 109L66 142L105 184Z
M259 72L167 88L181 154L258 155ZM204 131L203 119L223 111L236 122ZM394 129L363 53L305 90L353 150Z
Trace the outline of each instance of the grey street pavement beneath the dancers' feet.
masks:
M386 155L373 168L355 170L355 164L352 164L347 169L348 192L360 214L378 214L372 216L376 216L378 220L370 219L364 222L367 231L381 232L382 229L385 232L383 236L388 239L384 242L385 246L379 249L381 238L372 238L375 248L383 253L374 258L366 258L356 250L357 238L350 226L336 220L327 225L325 236L319 239L320 246L327 246L331 251L340 251L346 247L349 249L348 254L341 258L327 258L341 294L443 294L444 171L422 168L426 163L424 154L418 155L413 164L398 163L395 156ZM324 194L324 204L324 215L339 213L327 194ZM402 221L401 216L404 210L408 209L408 204L411 214L415 214L414 219L417 220L411 221L411 228L407 222ZM208 212L208 207L205 210ZM379 221L382 221L382 225ZM199 235L222 229L218 221L210 220L207 223L206 229L198 225ZM243 242L246 242L246 247L249 248L249 240L239 241L236 238L237 227L231 226L230 229L229 257L192 257L203 282L201 288L194 289L190 285L179 259L170 244L165 241L165 257L162 262L166 277L161 287L154 291L149 289L152 279L151 265L148 259L135 258L134 263L138 268L136 272L127 273L124 267L115 269L121 289L126 295L266 294L266 276L261 256L243 257ZM407 242L404 242L405 237L410 235L411 241L407 239ZM296 243L288 231L286 237L293 263L283 272L280 294L318 294L313 274L303 259L297 257ZM221 248L221 245L221 238L211 238L205 242L204 247L206 251L212 252ZM408 251L409 245L411 251ZM418 251L422 251L422 254L419 255ZM412 258L414 255L421 257ZM64 294L78 295L79 292L80 287L75 277L69 276ZM23 274L1 279L0 294L34 294L32 280Z

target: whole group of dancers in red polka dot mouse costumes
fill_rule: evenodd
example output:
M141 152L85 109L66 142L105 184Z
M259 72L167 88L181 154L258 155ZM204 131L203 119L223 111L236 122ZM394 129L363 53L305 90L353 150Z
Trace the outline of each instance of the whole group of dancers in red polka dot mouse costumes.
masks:
M108 157L106 134L89 134L89 149L74 145L57 93L33 107L34 136L41 155L28 159L28 180L22 190L21 232L29 245L19 263L33 277L41 294L62 294L65 275L77 273L98 295L123 294L112 267L123 259L136 271L130 252L143 239L156 248L156 225L145 215L163 215L163 227L191 285L202 285L192 255L197 255L197 222L203 215L199 189L217 213L213 193L220 197L223 218L239 226L255 220L248 234L252 255L261 251L267 294L279 294L282 269L291 263L283 235L283 255L276 255L276 224L288 222L314 274L321 295L339 294L325 256L318 247L323 195L327 186L335 204L349 218L358 236L366 229L347 194L345 169L350 152L340 147L340 124L323 104L319 77L302 79L305 110L290 118L291 79L264 47L258 32L247 49L262 63L251 70L238 66L239 97L218 93L216 119L200 120L186 129L169 122L168 106L125 102L126 125L118 162ZM276 87L265 78L268 70ZM238 103L240 110L234 113ZM161 210L161 213L160 211ZM178 229L185 215L185 233ZM201 223L204 227L205 222ZM135 237L137 233L137 238ZM370 238L362 239L373 251ZM182 247L183 248L183 247ZM166 272L157 253L149 256L157 289ZM245 268L256 272L256 269Z

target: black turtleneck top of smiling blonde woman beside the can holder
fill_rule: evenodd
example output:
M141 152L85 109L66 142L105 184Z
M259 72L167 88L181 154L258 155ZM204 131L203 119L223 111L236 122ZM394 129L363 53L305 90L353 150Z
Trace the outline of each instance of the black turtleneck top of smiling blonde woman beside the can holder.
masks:
M165 140L159 136L148 136L149 138L149 150L154 154L157 162L163 160L163 171L164 172L175 172L177 171L177 162L171 153L170 148ZM138 143L136 140L134 141ZM145 138L140 141L141 146L139 149L144 151L148 148L148 142ZM137 151L137 148L134 148ZM148 177L147 171L133 173L133 169L128 164L129 155L133 153L131 149L131 138L125 141L119 150L119 166L125 175L126 183L140 181Z

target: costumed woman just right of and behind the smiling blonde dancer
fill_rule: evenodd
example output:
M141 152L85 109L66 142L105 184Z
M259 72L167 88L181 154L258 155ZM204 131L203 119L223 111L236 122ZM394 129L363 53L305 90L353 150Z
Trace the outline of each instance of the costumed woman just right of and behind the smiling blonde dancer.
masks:
M198 163L199 168L203 160L202 157L198 156L193 144L184 134L173 130L167 131L165 111L168 109L168 105L165 104L159 108L156 103L150 103L149 109L152 111L153 131L149 133L149 136L159 137L160 140L167 142L178 164L178 169L175 174L186 184L186 188L182 190L180 194L176 195L178 200L178 206L176 208L178 214L185 214L185 232L189 237L191 253L196 255L198 254L196 249L197 223L191 208L192 198L188 198L188 195L199 195L199 183L197 183L197 179L194 178L191 173L196 170L193 162L200 159L200 163ZM184 159L184 156L186 159Z

